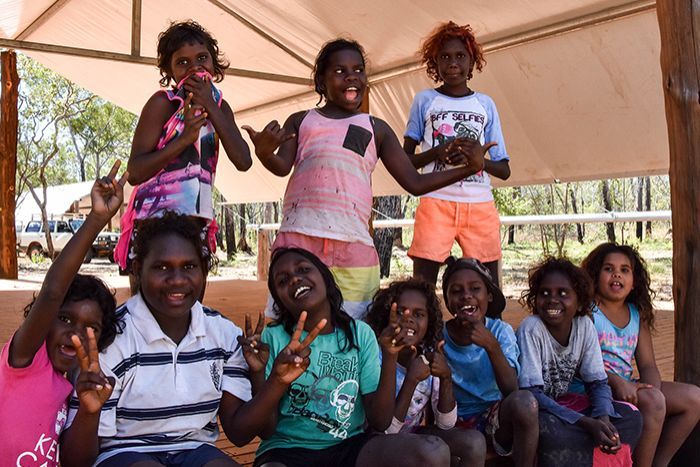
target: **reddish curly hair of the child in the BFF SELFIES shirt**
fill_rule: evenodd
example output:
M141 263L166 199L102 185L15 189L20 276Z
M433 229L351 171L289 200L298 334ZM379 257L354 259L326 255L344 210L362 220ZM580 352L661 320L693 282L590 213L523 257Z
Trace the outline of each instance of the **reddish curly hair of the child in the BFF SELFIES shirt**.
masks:
M486 65L481 45L476 41L471 26L468 24L460 26L453 21L442 23L423 41L418 52L421 62L426 66L425 72L428 74L428 77L436 83L442 81L438 73L437 56L440 52L440 48L450 39L460 40L466 47L467 52L469 52L471 67L467 79L472 79L472 72L475 67L478 71L481 71L484 65Z

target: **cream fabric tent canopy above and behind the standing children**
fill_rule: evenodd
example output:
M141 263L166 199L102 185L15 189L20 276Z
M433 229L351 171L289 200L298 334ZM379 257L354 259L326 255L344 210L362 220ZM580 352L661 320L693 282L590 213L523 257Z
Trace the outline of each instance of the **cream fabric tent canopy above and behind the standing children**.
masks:
M462 0L445 10L415 0L0 0L0 46L139 113L158 88L158 33L192 18L231 62L220 87L238 125L259 129L313 107L316 53L352 37L369 56L370 112L401 140L413 96L433 86L417 61L420 41L451 19L470 23L484 45L487 65L471 86L498 107L507 184L667 173L654 1ZM259 162L240 173L220 160L216 184L227 200L282 197L286 181ZM373 187L403 193L381 166Z

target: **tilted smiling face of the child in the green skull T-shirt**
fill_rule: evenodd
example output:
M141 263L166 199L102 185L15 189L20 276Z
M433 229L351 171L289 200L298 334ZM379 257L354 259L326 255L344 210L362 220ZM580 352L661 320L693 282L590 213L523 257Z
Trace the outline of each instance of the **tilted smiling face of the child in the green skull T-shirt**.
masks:
M327 304L326 283L321 271L299 253L285 253L270 273L277 297L295 318L298 319L304 310L311 313Z

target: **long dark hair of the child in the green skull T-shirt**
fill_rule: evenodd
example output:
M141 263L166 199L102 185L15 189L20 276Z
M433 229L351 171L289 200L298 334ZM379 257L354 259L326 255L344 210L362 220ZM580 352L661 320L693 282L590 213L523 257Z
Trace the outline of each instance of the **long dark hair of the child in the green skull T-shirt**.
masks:
M355 321L348 315L345 310L343 310L343 294L335 283L335 278L333 273L328 266L326 266L323 261L318 259L316 255L310 251L304 250L303 248L278 248L272 253L272 259L270 260L270 270L267 276L267 288L270 290L270 295L274 301L272 305L272 310L275 313L276 319L270 324L270 326L282 325L284 330L288 334L294 333L294 327L297 324L297 317L295 317L291 311L286 309L282 304L282 300L277 293L275 287L274 279L274 269L277 262L288 253L296 253L303 256L311 264L313 264L316 269L319 270L321 276L323 277L323 282L326 285L326 297L331 308L331 325L335 328L340 328L345 334L345 342L341 346L343 351L352 350L353 348L360 350L355 342L355 334L357 333L357 327Z

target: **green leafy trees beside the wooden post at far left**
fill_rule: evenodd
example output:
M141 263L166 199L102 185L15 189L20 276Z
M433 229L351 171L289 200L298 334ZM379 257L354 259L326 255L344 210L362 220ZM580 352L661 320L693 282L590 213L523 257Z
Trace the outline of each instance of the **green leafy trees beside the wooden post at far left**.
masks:
M18 201L30 193L46 225L47 188L101 175L115 157L126 160L135 117L31 58L22 54L17 58L16 193ZM44 230L53 257L51 236Z

